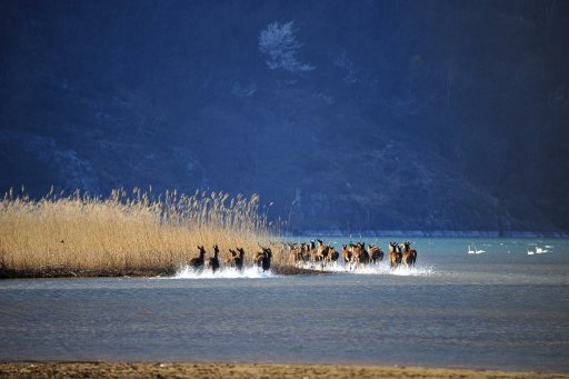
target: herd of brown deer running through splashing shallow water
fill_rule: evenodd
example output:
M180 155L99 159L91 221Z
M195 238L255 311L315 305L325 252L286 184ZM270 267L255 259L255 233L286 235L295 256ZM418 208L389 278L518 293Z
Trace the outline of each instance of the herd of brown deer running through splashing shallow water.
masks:
M318 245L317 245L318 242ZM310 241L308 243L272 243L273 248L278 248L282 252L289 253L290 261L297 267L309 267L311 269L326 269L338 266L340 252L333 246L325 243L321 239ZM280 246L280 247L279 247ZM259 267L263 271L271 268L272 250L270 247L262 247L252 255L252 265ZM198 246L198 257L190 259L189 266L194 270L203 270L204 268L216 272L220 269L219 247L213 246L213 257L206 260L206 248ZM229 249L228 258L223 259L226 267L242 270L246 263L246 253L243 248ZM405 241L402 247L397 242L389 242L388 263L391 269L396 269L401 265L408 268L415 266L417 260L417 250L411 249L411 242ZM349 270L366 267L368 265L379 265L383 261L383 251L381 247L366 242L342 245L341 262Z

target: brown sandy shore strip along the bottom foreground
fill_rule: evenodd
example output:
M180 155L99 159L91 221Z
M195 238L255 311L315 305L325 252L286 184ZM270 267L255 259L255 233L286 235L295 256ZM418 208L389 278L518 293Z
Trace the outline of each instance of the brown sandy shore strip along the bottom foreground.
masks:
M568 373L363 365L0 362L0 378L569 378Z

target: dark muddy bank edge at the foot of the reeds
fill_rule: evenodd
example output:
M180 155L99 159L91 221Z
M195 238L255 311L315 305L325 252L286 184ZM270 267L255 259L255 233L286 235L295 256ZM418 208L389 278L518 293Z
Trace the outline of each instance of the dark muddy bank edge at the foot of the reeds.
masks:
M67 267L43 267L34 270L16 270L0 268L2 279L56 279L56 278L157 278L173 277L176 268L149 268L149 269L106 269L84 270ZM330 271L310 270L295 266L274 266L271 271L276 275L328 275Z

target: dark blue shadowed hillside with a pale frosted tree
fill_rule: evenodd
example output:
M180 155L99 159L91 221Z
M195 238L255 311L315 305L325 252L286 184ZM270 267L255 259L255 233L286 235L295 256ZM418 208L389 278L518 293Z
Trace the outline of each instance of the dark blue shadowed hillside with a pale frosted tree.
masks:
M287 230L569 230L569 3L0 1L0 190Z

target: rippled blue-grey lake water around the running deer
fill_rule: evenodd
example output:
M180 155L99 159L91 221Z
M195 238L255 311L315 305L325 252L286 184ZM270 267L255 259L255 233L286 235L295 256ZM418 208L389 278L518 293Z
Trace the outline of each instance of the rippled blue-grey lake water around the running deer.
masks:
M486 252L468 255L469 245ZM529 256L536 245L548 251ZM387 250L386 240L381 246ZM173 279L3 280L0 361L569 372L568 240L415 238L413 247L412 270L391 271L383 262L327 276L248 269L241 277L228 270Z

